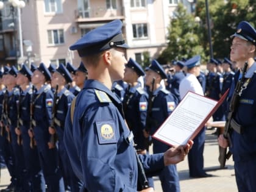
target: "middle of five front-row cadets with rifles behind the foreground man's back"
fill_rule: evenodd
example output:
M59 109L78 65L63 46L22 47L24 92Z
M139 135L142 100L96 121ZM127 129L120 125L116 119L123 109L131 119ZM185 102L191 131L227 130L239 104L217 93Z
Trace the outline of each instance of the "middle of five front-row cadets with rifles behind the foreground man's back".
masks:
M32 76L32 84L37 88L34 97L33 126L35 141L39 153L41 168L48 191L65 191L63 177L59 168L59 155L57 148L49 149L48 141L50 134L48 131L52 118L53 94L51 87L45 84L51 80L51 74L46 66L41 63ZM30 137L31 137L30 132Z

